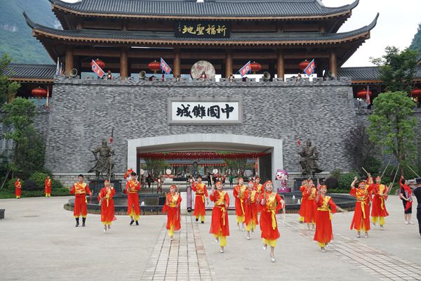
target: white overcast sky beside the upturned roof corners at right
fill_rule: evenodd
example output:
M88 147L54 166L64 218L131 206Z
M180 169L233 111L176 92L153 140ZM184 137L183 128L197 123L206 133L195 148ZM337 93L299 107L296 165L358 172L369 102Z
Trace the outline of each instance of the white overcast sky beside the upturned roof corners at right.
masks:
M65 0L76 2L77 0ZM354 0L322 0L325 6L343 6ZM410 45L418 24L421 22L420 0L360 0L352 11L352 16L340 28L339 32L356 30L370 24L376 13L380 13L377 26L371 31L371 38L366 41L343 65L371 65L370 56L384 54L386 46L397 46L401 49Z

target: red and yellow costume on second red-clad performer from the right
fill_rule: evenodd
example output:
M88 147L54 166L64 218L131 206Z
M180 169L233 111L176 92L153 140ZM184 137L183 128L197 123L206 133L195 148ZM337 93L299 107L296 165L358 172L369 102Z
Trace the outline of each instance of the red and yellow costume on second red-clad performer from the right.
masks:
M362 183L359 186L362 186ZM349 194L356 198L354 217L352 218L350 229L367 232L370 230L371 188L364 184L363 187L352 188Z

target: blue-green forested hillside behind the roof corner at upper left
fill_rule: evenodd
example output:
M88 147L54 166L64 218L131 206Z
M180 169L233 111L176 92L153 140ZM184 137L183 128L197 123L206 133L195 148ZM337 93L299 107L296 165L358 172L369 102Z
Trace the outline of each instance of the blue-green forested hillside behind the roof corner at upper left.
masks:
M0 55L8 53L13 63L54 63L42 44L32 37L22 12L41 25L58 27L48 0L0 0ZM61 28L61 27L60 27Z

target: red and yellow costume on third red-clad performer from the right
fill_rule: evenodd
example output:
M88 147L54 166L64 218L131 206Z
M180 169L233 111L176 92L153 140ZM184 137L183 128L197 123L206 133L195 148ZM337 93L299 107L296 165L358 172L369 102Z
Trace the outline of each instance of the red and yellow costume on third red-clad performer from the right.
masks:
M317 241L321 248L324 248L330 240L333 240L332 232L332 215L336 213L336 205L330 196L319 196L316 204L316 233L314 233L314 241ZM330 208L329 208L330 207Z

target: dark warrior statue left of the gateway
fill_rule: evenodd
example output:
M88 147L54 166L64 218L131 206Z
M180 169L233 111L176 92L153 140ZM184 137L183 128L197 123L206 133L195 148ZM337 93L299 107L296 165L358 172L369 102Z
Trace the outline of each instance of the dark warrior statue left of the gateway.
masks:
M107 175L107 178L114 178L114 173L112 172L112 169L114 168L114 163L112 162L111 156L114 155L114 150L112 149L112 146L107 145L107 141L102 140L102 145L98 146L94 150L92 150L93 156L95 157L95 160L92 162L96 162L95 165L92 167L91 170L88 171L88 173L91 173L95 171L95 176L97 179L100 178L100 176L103 178L104 174ZM100 157L98 157L98 152L100 154Z

